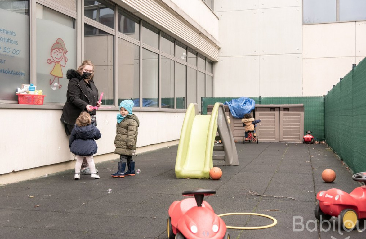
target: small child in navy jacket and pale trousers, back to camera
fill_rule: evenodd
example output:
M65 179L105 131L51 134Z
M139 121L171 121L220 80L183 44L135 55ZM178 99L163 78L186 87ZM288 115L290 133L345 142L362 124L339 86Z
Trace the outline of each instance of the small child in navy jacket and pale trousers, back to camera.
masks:
M100 178L96 173L93 159L93 154L97 153L98 150L95 140L100 139L100 137L102 137L102 134L94 126L94 122L91 122L90 114L86 111L81 112L76 119L76 124L71 131L69 140L70 151L76 154L75 180L80 179L80 169L84 157L89 164L91 178Z

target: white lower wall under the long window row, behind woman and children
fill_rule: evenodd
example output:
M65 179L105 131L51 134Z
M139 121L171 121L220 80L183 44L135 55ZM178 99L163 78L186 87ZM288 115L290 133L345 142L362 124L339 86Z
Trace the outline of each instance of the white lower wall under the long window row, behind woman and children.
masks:
M96 155L114 152L117 113L97 112L97 127L102 137L97 140ZM140 121L138 147L179 139L184 112L134 113ZM61 114L61 110L51 109L0 109L2 127L11 129L5 130L0 139L0 174L74 160L68 147L69 137L60 121ZM32 120L25 124L25 119Z

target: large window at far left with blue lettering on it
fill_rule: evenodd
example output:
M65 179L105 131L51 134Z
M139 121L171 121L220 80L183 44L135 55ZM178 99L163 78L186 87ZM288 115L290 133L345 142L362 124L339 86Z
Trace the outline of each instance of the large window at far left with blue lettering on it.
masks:
M0 100L18 100L29 84L29 1L0 1Z

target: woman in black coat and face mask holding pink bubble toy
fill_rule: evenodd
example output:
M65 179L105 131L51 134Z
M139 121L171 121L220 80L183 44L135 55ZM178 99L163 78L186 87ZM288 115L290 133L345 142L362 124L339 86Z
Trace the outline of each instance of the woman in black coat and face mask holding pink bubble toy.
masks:
M83 61L78 70L68 70L66 73L69 79L66 93L66 103L62 110L61 121L64 123L66 135L70 135L72 128L82 111L89 112L92 122L97 126L96 110L91 108L100 107L98 102L98 89L94 85L94 64L89 60ZM87 162L84 160L81 174L91 174L87 171ZM84 172L85 171L85 172Z

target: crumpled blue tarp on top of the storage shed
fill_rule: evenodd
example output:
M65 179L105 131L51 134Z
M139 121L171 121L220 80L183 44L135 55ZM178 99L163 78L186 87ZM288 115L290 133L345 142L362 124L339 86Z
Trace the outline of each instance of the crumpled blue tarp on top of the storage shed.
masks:
M245 114L250 113L255 108L255 101L243 96L229 102L226 101L224 105L229 106L230 113L234 118L242 119Z

